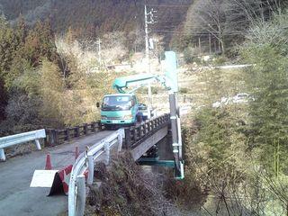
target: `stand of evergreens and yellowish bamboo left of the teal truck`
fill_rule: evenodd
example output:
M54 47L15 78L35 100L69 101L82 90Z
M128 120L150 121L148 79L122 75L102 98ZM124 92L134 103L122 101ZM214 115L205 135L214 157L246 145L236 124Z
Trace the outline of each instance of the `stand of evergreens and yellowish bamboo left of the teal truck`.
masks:
M49 21L0 23L1 134L94 121L94 101L111 91L111 80L86 75L70 49L57 50Z

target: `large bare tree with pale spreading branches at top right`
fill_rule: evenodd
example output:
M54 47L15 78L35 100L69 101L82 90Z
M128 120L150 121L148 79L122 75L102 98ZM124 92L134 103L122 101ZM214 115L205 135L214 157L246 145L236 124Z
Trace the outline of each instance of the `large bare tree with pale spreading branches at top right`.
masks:
M278 0L197 0L187 13L185 30L196 38L212 35L225 54L229 41L244 39L251 25L265 23L280 8Z

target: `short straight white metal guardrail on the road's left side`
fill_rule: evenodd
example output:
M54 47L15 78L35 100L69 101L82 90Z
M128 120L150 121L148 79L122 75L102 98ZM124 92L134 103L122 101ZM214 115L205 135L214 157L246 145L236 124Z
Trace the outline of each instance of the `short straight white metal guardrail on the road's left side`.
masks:
M35 141L37 149L41 149L39 139L46 138L45 130L34 130L0 138L0 160L5 160L4 148L17 144L23 144L28 141Z

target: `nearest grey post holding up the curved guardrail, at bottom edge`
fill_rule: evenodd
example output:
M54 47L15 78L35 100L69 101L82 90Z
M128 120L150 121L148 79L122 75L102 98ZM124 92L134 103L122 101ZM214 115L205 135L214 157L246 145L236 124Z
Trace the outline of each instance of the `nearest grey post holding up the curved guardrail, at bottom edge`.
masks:
M85 175L77 176L76 216L83 216L85 211Z

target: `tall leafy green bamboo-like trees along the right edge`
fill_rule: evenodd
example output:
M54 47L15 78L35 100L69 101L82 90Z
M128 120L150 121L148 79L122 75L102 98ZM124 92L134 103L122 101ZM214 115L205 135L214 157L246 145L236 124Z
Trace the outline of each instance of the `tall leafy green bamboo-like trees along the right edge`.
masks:
M259 160L268 170L288 174L288 31L287 14L257 23L243 50L254 64L247 83L255 97L250 109L250 148L261 149Z

